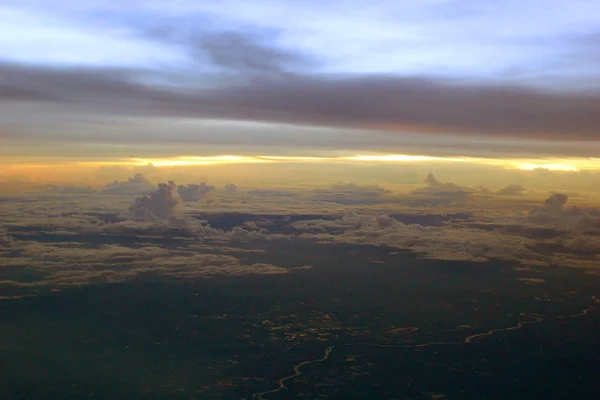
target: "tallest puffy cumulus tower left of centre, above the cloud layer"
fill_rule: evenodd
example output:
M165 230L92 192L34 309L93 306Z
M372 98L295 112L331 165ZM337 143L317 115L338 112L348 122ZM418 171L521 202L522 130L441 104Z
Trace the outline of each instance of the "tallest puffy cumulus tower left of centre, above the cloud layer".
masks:
M168 218L173 215L173 209L180 201L175 182L159 183L158 189L150 195L144 194L135 199L129 208L129 218L141 221Z

